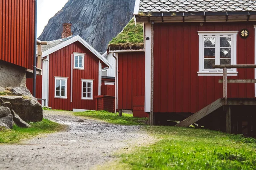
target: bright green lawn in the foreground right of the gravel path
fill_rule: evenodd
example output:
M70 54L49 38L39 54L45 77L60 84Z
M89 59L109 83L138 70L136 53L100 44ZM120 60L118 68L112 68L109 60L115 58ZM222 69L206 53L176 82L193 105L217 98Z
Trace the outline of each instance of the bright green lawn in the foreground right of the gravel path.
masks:
M255 170L256 139L218 131L145 127L158 142L121 155L131 170Z

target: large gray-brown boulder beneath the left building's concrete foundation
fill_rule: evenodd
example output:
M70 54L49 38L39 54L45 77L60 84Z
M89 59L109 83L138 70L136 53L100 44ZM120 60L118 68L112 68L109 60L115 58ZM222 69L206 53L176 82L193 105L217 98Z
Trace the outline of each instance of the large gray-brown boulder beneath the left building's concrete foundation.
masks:
M9 102L13 111L26 122L40 122L43 119L43 109L34 97L0 96L3 102Z

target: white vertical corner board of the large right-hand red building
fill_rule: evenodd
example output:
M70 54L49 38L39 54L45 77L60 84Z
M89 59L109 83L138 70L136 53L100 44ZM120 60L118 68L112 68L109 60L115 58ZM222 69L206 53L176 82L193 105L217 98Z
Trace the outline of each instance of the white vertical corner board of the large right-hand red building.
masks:
M151 109L151 23L145 23L145 112Z

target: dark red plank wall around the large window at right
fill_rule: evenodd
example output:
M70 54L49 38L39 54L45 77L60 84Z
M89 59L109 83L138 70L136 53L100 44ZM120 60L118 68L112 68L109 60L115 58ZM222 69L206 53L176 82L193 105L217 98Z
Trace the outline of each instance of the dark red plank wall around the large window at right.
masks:
M154 112L195 113L223 96L222 76L198 76L198 31L240 31L237 64L254 64L255 22L154 23ZM253 69L237 69L228 79L254 79ZM254 97L254 84L229 83L228 97Z

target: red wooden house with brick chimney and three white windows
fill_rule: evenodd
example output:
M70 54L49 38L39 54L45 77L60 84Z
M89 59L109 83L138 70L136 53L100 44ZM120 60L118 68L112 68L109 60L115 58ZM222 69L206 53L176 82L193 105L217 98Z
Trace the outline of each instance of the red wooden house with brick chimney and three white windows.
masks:
M42 45L43 73L37 77L36 97L53 109L95 110L99 71L112 64L81 37L72 37L70 28L64 24L62 39Z

